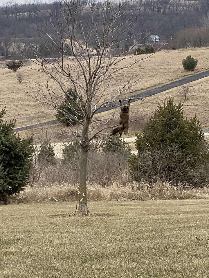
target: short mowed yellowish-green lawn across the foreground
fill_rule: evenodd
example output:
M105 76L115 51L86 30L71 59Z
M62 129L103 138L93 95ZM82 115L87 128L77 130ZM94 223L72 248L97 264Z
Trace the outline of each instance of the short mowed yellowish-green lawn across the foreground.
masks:
M0 206L0 277L208 278L208 200Z

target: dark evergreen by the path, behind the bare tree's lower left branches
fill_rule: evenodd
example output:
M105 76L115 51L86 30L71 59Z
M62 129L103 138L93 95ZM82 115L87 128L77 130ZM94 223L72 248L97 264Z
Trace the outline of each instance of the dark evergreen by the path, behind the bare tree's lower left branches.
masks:
M78 97L73 89L67 90L67 95L63 103L58 107L55 117L64 125L73 125L78 120L83 119L82 111L78 105Z

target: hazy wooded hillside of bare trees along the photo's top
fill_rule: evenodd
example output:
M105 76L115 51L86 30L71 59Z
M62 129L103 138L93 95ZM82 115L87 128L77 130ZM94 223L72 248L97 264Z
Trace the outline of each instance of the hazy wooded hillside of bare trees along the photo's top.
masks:
M80 1L83 6L88 6L88 1ZM102 4L102 3L101 3ZM115 3L118 5L118 3ZM134 26L132 33L126 36L132 36L137 33L144 33L142 43L145 44L145 36L149 34L147 30L151 29L152 34L158 34L161 39L175 44L176 47L205 46L208 43L207 33L209 30L209 1L171 1L171 0L137 0L131 1L126 5L126 13L118 18L118 21L125 22L130 14L139 13L138 22ZM79 15L80 16L80 15ZM99 5L94 11L98 23L101 22ZM42 26L48 34L51 34L56 41L56 33L53 28L49 30L45 20L58 18L62 19L62 8L60 2L42 3L34 1L25 4L18 4L10 1L0 7L0 55L8 56L8 50L14 55L17 47L12 45L19 44L21 52L26 56L33 56L31 45L37 45L41 55L48 56L50 49L48 45L40 40L37 26ZM82 13L82 20L88 24L89 14ZM99 28L99 26L98 26ZM121 33L123 26L118 30ZM200 30L200 32L199 32ZM195 38L191 38L190 33L194 33ZM173 41L171 38L173 36ZM182 39L183 37L183 39ZM118 37L120 41L120 36ZM94 43L93 41L91 42ZM129 45L134 43L130 39ZM95 46L95 45L94 45ZM96 47L96 46L95 46ZM119 45L117 46L119 47ZM127 47L127 46L126 46ZM66 50L68 51L68 50Z

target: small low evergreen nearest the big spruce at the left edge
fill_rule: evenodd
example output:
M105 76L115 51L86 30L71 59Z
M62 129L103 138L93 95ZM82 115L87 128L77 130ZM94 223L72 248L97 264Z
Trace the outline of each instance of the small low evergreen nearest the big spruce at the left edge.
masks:
M37 161L44 164L53 164L55 162L55 153L53 146L48 142L43 142L37 154Z

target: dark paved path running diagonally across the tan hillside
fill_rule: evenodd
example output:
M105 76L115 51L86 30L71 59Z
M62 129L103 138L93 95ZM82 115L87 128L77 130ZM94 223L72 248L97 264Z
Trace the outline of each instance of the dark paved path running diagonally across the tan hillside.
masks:
M139 94L136 94L136 95L130 97L131 98L131 103L135 102L139 99L147 98L149 96L153 96L155 94L165 92L169 89L181 86L183 84L202 79L202 78L207 77L207 76L209 76L209 70L207 70L206 72L201 72L201 73L198 73L198 74L194 74L192 76L185 77L185 78L177 80L177 81L173 81L169 84L165 84L163 86L160 86L160 87L157 87L157 88L154 88L154 89L151 89L151 90L141 92ZM105 111L109 111L111 109L115 109L118 106L119 106L119 102L117 101L116 103L112 103L111 105L109 105L107 107L101 107L100 109L98 109L96 111L95 114L105 112ZM15 128L15 131L22 131L22 130L32 129L32 128L36 128L36 127L43 127L45 125L53 125L53 124L57 124L57 123L59 123L59 121L57 121L57 120L52 120L52 121L48 121L48 122L41 122L41 123L36 124L36 125L28 125L28 126L25 126L25 127L17 127L17 128Z

